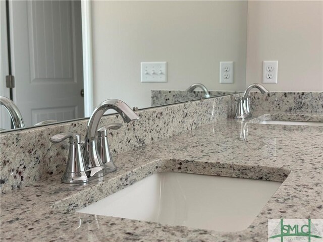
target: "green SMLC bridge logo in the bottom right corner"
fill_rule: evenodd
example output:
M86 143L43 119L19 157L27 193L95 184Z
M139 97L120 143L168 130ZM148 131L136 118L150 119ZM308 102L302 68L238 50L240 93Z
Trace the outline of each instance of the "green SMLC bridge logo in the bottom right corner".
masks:
M295 221L298 219L295 219ZM284 242L284 237L298 237L300 241L311 241L311 238L322 238L321 235L318 233L318 230L311 222L311 219L308 219L307 223L304 224L297 224L297 223L286 223L284 224L284 219L281 219L272 234L269 238L281 238L281 242ZM301 238L302 237L302 238ZM307 238L307 239L306 239ZM306 239L306 240L304 240ZM294 241L296 239L293 239Z

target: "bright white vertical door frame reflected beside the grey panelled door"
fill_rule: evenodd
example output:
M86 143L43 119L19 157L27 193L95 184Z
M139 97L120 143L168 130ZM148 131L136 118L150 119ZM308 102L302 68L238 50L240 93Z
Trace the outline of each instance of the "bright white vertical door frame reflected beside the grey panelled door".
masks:
M91 0L81 1L84 116L91 116L93 105L92 6Z

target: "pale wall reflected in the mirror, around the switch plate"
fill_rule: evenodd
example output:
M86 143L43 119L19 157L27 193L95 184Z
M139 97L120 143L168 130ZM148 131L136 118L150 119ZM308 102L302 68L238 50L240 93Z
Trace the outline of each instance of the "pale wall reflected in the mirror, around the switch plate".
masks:
M93 1L94 105L150 106L151 89L244 90L246 1ZM168 62L168 83L140 83L140 62ZM235 83L219 84L220 61Z

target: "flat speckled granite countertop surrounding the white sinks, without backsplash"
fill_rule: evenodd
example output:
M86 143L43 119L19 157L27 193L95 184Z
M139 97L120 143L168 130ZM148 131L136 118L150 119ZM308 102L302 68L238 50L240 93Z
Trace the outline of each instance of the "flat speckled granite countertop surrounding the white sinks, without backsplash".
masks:
M86 185L61 175L1 197L2 241L267 241L267 220L322 218L323 127L219 121L115 157L117 171ZM75 210L161 171L283 181L239 232L170 226Z

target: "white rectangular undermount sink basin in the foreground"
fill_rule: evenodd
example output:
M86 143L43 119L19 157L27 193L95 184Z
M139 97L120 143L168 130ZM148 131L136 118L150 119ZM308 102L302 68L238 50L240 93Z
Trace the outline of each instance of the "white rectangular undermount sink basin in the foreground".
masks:
M247 228L282 183L161 172L77 212L217 231Z

